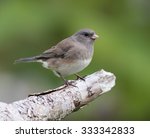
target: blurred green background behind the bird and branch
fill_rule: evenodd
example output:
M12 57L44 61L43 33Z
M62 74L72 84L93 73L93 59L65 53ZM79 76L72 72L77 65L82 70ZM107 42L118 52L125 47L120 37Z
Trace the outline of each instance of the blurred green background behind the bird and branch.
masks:
M149 0L1 0L0 101L62 85L38 63L13 62L82 28L95 30L100 39L80 75L105 69L116 75L116 86L64 120L150 120Z

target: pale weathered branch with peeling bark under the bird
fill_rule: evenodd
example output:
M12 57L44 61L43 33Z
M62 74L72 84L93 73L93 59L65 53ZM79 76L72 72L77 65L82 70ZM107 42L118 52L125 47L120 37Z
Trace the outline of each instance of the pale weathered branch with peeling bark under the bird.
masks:
M0 120L60 120L108 92L115 85L115 76L101 70L72 84L76 87L61 86L11 104L0 103Z

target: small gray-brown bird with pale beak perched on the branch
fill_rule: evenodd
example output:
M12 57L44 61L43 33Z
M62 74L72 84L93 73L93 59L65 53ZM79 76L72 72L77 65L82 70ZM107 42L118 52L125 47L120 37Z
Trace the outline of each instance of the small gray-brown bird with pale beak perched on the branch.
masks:
M18 59L15 63L41 62L43 67L51 69L68 86L70 83L64 78L65 76L75 74L78 78L83 79L76 73L91 62L94 51L93 44L97 37L98 35L93 30L82 29L42 54Z

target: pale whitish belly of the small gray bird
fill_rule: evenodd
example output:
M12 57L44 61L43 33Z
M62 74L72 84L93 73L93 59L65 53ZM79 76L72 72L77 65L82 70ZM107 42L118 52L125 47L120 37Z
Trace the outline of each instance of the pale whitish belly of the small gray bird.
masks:
M76 62L72 62L72 63L69 63L69 64L62 64L55 71L59 72L62 76L68 76L68 75L80 72L85 67L87 67L90 62L91 62L91 59L78 60Z

